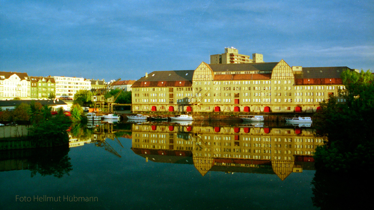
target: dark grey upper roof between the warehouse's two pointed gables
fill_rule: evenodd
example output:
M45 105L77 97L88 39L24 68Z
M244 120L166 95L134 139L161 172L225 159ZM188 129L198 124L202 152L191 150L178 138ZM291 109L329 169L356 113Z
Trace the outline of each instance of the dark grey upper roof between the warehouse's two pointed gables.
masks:
M250 64L208 64L214 72L224 71L272 71L279 62Z

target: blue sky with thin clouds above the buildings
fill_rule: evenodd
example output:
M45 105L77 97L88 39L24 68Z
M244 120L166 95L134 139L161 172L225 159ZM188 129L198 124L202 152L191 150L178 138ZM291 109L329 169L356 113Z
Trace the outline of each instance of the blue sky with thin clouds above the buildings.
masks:
M374 1L0 0L0 71L138 80L235 47L374 71Z

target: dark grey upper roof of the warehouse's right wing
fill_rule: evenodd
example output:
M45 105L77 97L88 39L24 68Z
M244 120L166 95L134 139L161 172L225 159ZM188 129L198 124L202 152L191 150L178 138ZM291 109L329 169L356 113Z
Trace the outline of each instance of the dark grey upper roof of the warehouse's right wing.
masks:
M346 69L353 71L348 67L303 67L302 73L295 74L295 78L340 78L341 72Z

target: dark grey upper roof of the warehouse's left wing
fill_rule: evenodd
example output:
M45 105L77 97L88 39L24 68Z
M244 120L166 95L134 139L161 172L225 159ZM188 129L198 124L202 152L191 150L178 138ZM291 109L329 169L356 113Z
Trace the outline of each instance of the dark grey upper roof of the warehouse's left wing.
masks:
M153 71L148 77L142 77L137 82L146 81L192 81L194 70Z

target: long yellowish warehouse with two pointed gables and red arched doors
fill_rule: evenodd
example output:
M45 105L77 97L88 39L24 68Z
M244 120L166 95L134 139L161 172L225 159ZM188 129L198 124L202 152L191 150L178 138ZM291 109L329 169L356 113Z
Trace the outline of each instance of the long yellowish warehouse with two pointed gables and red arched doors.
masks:
M290 67L279 62L206 64L154 71L132 85L132 111L314 112L344 89L348 67ZM338 101L343 102L343 99Z

